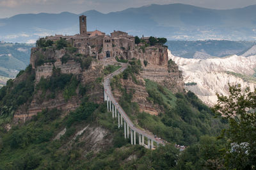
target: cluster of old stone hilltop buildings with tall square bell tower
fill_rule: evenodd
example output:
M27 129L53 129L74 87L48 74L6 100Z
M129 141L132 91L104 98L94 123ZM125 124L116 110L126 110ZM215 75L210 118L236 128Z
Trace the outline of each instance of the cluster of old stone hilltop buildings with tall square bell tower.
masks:
M134 36L123 31L113 31L106 35L99 30L87 31L86 16L79 17L80 34L74 36L47 36L47 40L57 41L67 40L73 47L77 47L78 52L86 56L96 56L98 59L116 56L128 57L128 51L134 50Z

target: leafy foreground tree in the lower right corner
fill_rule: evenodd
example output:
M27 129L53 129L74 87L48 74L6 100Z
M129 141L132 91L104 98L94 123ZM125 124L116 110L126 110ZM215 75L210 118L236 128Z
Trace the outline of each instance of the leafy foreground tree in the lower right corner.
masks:
M229 86L229 97L218 96L218 103L212 108L229 128L223 130L227 137L225 165L228 169L253 169L256 167L256 91L241 85Z

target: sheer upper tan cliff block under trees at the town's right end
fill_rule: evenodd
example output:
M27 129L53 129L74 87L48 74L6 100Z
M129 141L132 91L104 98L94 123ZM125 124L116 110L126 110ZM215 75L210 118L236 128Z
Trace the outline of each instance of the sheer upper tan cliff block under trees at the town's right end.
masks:
M147 47L145 52L135 50L133 57L141 61L143 79L158 82L173 93L184 91L182 72L179 71L179 67L174 62L168 62L167 47Z

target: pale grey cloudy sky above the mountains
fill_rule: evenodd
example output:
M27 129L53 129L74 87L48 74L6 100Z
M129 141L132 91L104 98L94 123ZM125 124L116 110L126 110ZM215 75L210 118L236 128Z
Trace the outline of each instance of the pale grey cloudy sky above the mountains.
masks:
M20 13L79 14L88 10L109 13L148 4L172 3L224 10L256 4L256 0L0 0L0 18L12 17Z

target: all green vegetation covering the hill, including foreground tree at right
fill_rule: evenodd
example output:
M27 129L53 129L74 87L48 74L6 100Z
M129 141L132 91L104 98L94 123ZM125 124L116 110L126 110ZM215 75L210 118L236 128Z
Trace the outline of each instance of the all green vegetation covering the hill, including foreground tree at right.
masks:
M141 61L132 59L128 62L127 69L111 81L111 86L122 93L119 104L132 121L138 123L138 127L150 130L170 144L160 146L156 150L148 150L139 145L132 146L129 139L124 139L124 129L118 128L112 114L107 112L106 103L90 102L86 90L88 84L81 86L79 77L61 73L60 69L54 67L52 77L41 79L35 87L35 72L29 65L17 75L17 80L8 81L8 84L0 89L0 169L255 167L256 137L253 132L256 130L256 92L245 91L243 94L239 86L230 87L230 97L219 96L218 105L212 109L214 112L225 114L225 118L214 118L214 112L202 104L191 91L174 94L148 79L145 79L144 84L138 79ZM108 75L118 68L118 65L106 66L103 74ZM159 108L161 113L152 116L140 112L138 104L132 102L133 93L136 91L123 87L120 79L131 79L138 86L145 85L148 102ZM102 77L99 77L95 83L100 84L101 80ZM61 92L66 100L74 95L80 95L83 99L75 111L64 113L58 109L46 108L33 116L32 120L13 125L7 132L4 125L10 121L15 109L29 102L33 93L39 93L38 91L41 91L42 98L54 98L56 93ZM88 146L90 141L84 138L87 134L76 135L87 126L104 130L102 141L107 142L98 146L99 149L103 148L102 150L95 151L95 148ZM65 134L58 139L57 134L65 128ZM221 131L224 128L226 130ZM174 143L188 147L180 152L174 147Z

